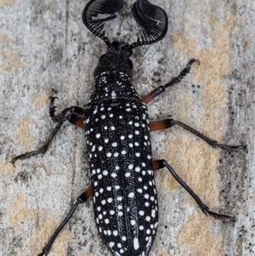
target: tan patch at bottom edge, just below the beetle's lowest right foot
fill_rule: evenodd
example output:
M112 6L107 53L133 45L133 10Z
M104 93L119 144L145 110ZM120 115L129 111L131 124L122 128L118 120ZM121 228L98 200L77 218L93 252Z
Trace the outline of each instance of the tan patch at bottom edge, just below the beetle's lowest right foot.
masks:
M193 213L178 232L178 246L191 255L215 256L221 253L218 244L221 237L212 235L213 219L201 213Z

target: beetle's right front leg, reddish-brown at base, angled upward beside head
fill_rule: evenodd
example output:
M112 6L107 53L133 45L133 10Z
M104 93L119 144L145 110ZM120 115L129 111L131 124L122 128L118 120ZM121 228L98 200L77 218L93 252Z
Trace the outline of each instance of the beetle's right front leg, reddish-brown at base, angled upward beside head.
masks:
M196 63L197 65L200 65L200 61L199 60L195 60L195 59L192 59L190 60L190 62L185 66L184 70L180 72L180 74L178 75L178 77L173 77L173 79L170 81L170 82L167 82L165 85L161 85L159 86L158 88L154 89L152 92L150 92L150 94L147 94L145 95L143 98L142 98L142 102L144 104L147 104L149 103L151 100L154 100L158 95L162 94L166 88L178 83L178 82L181 82L181 80L187 75L190 73L190 69L191 69L191 65L193 63Z

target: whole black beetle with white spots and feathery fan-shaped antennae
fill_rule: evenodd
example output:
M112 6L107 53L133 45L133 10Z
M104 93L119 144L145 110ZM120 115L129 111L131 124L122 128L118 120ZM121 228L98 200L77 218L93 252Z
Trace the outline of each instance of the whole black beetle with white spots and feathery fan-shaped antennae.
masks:
M195 199L203 213L223 221L235 221L234 217L210 211L166 160L152 161L150 131L171 128L175 124L215 148L246 151L246 145L218 144L194 128L172 118L149 122L146 104L162 94L166 88L180 82L190 72L192 64L199 65L199 60L190 60L178 77L140 98L133 84L129 82L129 75L133 70L129 58L133 48L156 43L165 37L167 14L147 0L136 1L133 3L132 13L142 29L140 37L130 44L122 41L111 43L108 37L105 37L105 22L115 19L116 13L122 7L122 0L92 0L86 5L82 13L83 23L107 46L106 54L101 56L94 71L95 81L90 101L85 109L71 106L55 115L55 98L51 97L49 114L58 124L39 150L16 156L12 160L14 164L18 159L44 154L65 121L85 128L91 185L77 198L70 213L55 230L40 256L48 254L56 236L77 206L87 201L90 196L93 196L94 219L99 234L112 255L148 255L158 225L153 172L160 168L169 170ZM99 14L105 14L106 17L99 19Z

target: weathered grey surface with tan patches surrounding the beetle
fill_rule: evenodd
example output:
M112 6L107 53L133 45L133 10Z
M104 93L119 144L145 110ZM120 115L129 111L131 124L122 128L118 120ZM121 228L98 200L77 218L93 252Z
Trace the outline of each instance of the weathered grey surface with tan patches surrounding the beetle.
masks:
M108 35L133 42L130 5ZM250 0L151 1L169 16L167 37L133 53L140 95L201 60L178 86L149 105L151 120L173 117L244 152L212 149L181 128L152 134L154 158L166 158L212 210L236 216L235 225L207 218L167 173L156 172L160 225L150 256L248 256L255 253L255 3ZM88 1L1 1L1 255L37 255L89 184L82 129L69 123L45 156L9 163L36 149L58 110L85 105L105 44L82 24ZM155 72L160 73L156 76ZM109 255L94 225L92 202L77 209L49 256Z

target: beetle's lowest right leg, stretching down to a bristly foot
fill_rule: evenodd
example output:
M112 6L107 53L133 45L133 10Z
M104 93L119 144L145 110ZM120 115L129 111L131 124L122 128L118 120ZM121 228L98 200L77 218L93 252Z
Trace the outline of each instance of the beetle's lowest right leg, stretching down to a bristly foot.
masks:
M201 199L195 194L194 191L190 189L190 187L178 176L178 174L175 173L173 168L167 163L165 159L160 159L152 162L152 168L153 170L157 170L160 168L167 168L170 174L173 175L173 178L178 181L178 184L181 185L185 191L187 191L190 196L193 197L195 202L198 204L199 208L201 208L201 211L205 213L206 215L209 214L215 219L220 219L222 221L232 221L235 222L235 217L231 217L229 215L224 215L224 214L219 214L219 213L214 213L209 210L209 208L201 201Z

